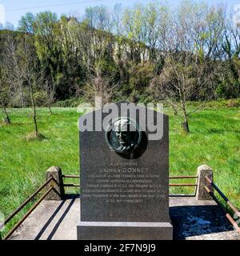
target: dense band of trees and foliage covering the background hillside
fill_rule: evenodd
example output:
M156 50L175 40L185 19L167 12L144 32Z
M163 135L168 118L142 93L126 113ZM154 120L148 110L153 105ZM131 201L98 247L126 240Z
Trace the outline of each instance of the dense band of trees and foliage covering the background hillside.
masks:
M173 9L153 1L123 10L115 6L113 11L94 6L80 19L66 15L58 18L50 11L26 13L19 21L18 32L0 30L0 44L16 44L21 68L27 60L26 38L32 41L38 62L36 73L43 73L42 84L36 89L39 95L46 90L54 102L90 95L86 90L92 92L93 88L86 84L98 75L110 81L110 86L122 85L114 91L122 97L131 95L136 101L142 95L154 98L149 90L152 78L173 65L178 69L178 80L186 74L188 86L197 89L203 84L204 88L190 98L195 100L239 97L238 34L239 28L232 26L221 6L187 0ZM0 55L4 48L0 48ZM171 63L166 62L169 54L174 55ZM219 62L224 72L218 70ZM210 65L202 78L206 63ZM20 106L17 91L11 95L12 106Z

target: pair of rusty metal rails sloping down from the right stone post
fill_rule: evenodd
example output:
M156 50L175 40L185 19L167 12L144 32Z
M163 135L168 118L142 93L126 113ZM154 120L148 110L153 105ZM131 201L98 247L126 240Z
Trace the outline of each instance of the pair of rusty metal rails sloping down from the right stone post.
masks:
M236 216L238 216L238 218L240 219L240 212L239 212L239 210L237 210L237 208L230 202L230 200L226 197L226 195L222 193L222 191L218 188L218 186L208 176L205 176L205 178L206 178L206 182L208 182L210 184L210 186L212 186L212 188L215 191L218 192L220 197L224 200L224 202L226 202L226 205L229 206L230 209L234 212L234 214ZM220 208L224 212L226 218L234 226L234 229L236 231L238 231L238 233L240 233L240 227L238 226L238 223L234 221L234 218L232 218L232 216L226 211L224 206L222 206L222 203L218 200L218 198L214 195L214 193L207 186L205 186L205 189L206 189L207 193L210 194L210 196L218 204L218 206L220 206Z

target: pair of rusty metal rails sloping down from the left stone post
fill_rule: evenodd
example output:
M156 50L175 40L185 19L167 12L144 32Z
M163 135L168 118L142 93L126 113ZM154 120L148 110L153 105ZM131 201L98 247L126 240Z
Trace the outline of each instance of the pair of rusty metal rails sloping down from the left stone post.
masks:
M6 226L26 205L28 205L50 182L56 182L56 180L51 177L50 179L48 179L42 186L40 186L38 188L38 190L36 190L34 192L34 194L32 194L29 198L26 199L25 202L22 203L21 206L18 207L18 209L14 210L14 212L12 214L10 214L10 216L8 218L6 218L4 220L4 222L2 223L2 226ZM42 195L41 198L38 199L38 202L35 202L34 206L30 207L30 210L27 211L27 213L18 221L18 223L9 231L8 234L6 234L6 236L4 238L2 238L2 236L0 235L0 238L2 238L3 240L7 240L8 238L10 238L10 236L14 233L15 230L18 229L18 226L20 226L22 224L22 222L24 222L26 220L26 218L37 208L37 206L42 202L42 200L44 200L46 198L46 196L48 194L50 194L50 192L54 190L54 187L52 185L50 185L50 188L48 190L46 190L46 192Z

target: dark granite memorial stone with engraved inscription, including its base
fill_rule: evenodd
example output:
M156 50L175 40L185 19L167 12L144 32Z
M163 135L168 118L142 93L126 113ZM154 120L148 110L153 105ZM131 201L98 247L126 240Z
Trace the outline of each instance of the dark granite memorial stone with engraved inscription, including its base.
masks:
M117 104L118 110L120 105ZM144 107L141 109L146 111ZM93 117L99 114L98 111L102 110L94 111ZM96 131L95 123L94 131L80 132L78 240L172 239L168 186L169 120L165 114L149 111L154 112L155 121L157 115L162 120L163 136L149 140L150 131L142 131L141 143L131 154L119 154L110 148L105 130ZM139 123L143 112L137 113L134 122ZM102 114L102 120L106 115ZM128 117L128 114L124 116Z

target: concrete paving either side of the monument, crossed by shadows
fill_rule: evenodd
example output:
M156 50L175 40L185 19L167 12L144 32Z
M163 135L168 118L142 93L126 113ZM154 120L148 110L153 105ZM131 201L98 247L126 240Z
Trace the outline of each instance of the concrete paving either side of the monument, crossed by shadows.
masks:
M80 199L43 201L11 236L12 240L76 240ZM174 239L240 240L222 210L213 201L170 198Z

